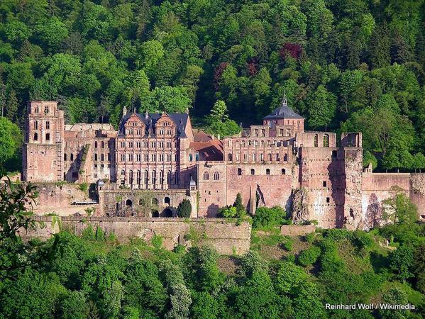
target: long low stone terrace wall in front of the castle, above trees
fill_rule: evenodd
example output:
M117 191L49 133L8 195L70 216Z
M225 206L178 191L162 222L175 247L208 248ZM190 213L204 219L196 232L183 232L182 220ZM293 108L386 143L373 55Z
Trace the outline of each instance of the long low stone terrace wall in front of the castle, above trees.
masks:
M200 243L211 245L219 254L243 254L250 247L251 226L244 222L236 225L235 221L223 218L106 218L91 217L77 218L62 217L60 222L52 216L35 216L42 223L21 236L28 239L33 237L47 239L58 233L60 228L81 235L90 223L94 228L101 227L106 233L113 232L120 242L128 242L130 238L142 238L150 242L153 235L163 237L163 245L172 250L177 244L192 245L198 237Z

